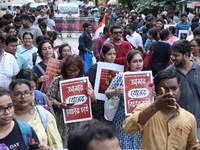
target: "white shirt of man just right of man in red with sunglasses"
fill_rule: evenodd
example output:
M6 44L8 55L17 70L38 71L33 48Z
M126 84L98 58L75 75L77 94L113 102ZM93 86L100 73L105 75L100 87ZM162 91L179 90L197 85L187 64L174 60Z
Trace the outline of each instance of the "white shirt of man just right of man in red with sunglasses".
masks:
M142 37L137 32L134 32L132 35L127 35L126 39L130 42L135 48L138 48L137 44L143 46Z

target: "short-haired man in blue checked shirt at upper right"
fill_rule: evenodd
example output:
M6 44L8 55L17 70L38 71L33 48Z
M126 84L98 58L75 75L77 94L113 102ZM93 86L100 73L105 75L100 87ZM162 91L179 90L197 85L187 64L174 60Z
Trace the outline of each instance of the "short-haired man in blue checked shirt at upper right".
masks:
M181 22L176 24L176 36L179 35L179 30L189 30L191 26L191 23L187 22L187 14L182 13L180 20Z

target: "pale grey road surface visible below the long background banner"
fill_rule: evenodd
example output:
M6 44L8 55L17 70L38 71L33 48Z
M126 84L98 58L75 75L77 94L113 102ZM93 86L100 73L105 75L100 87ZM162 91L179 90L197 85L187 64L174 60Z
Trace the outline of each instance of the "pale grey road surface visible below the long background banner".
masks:
M72 48L72 53L73 54L78 54L79 50L78 50L78 38L79 38L80 34L72 34L72 37L69 38L67 37L67 34L63 34L62 37L59 35L58 38L56 39L55 43L61 45L63 43L68 43L71 48ZM95 57L93 57L93 63L96 62Z

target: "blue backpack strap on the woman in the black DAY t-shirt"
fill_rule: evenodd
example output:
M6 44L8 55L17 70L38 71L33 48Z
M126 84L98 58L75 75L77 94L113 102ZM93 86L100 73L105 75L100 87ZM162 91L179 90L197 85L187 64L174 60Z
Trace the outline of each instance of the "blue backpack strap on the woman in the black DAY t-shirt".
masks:
M24 144L26 145L26 147L28 149L29 148L29 139L32 138L31 126L27 122L19 121L19 120L16 120L16 121L19 126L20 132L22 134Z

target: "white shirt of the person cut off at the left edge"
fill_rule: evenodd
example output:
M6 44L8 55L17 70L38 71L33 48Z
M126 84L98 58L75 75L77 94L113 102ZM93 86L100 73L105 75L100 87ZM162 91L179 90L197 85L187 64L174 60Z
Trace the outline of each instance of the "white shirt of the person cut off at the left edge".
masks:
M12 77L17 75L18 72L19 67L15 57L4 51L0 60L0 86L8 89Z

